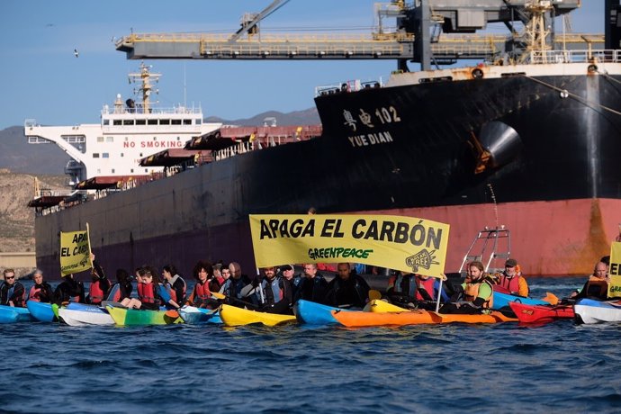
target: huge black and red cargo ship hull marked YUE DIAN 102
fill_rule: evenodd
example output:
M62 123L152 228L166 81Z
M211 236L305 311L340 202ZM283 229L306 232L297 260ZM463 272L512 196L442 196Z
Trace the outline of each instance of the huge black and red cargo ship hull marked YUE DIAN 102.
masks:
M533 21L553 7L536 3ZM449 223L447 272L473 234L504 226L525 275L590 274L621 221L621 50L531 46L518 60L320 87L316 138L261 144L220 128L184 146L207 162L126 191L119 179L55 211L41 203L38 266L56 275L58 231L88 222L111 269L173 263L189 275L207 258L252 274L248 214L314 207ZM43 128L25 135L44 139Z

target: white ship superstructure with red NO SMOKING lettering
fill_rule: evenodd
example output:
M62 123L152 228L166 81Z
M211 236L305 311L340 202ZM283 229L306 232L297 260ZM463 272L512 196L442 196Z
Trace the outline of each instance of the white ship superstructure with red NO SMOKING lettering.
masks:
M204 122L202 109L176 106L154 108L152 81L158 74L144 64L130 81L140 82L141 102L122 101L121 94L104 105L99 124L41 126L26 120L24 133L31 144L55 143L72 158L65 172L76 184L94 176L149 175L161 166L139 166L143 157L166 148L184 148L185 142L220 128L220 123Z

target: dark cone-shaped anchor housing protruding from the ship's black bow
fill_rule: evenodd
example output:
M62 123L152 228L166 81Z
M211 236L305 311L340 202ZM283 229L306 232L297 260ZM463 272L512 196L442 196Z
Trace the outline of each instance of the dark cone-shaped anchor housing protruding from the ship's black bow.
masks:
M490 154L492 168L505 166L518 157L522 149L522 139L516 130L504 122L491 121L481 128L481 146Z

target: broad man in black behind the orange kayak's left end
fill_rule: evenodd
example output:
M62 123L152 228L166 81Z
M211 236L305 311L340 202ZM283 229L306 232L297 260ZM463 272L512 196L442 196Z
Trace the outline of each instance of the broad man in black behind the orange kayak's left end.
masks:
M352 270L349 263L339 263L337 272L328 284L324 302L339 308L364 308L369 302L369 284Z

